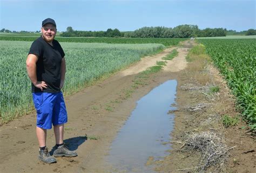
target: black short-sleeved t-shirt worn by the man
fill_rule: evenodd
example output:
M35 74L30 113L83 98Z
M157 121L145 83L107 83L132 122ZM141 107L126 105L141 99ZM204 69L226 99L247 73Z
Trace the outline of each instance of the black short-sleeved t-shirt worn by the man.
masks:
M60 92L60 67L65 53L57 40L53 40L52 44L48 44L41 36L32 43L29 54L38 56L37 81L44 81L48 85L43 92L56 93ZM32 83L32 92L42 91Z

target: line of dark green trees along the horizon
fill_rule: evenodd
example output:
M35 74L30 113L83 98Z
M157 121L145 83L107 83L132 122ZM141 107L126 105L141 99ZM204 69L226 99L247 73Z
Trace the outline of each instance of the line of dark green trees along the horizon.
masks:
M16 32L5 30L6 33L26 33L26 31ZM39 31L36 31L39 33ZM190 37L225 37L226 35L256 35L256 30L237 32L235 30L226 30L226 28L205 28L200 30L197 25L179 25L174 28L157 26L142 27L135 31L120 32L117 28L107 31L76 31L71 26L66 31L60 33L60 37L125 37L125 38L190 38Z

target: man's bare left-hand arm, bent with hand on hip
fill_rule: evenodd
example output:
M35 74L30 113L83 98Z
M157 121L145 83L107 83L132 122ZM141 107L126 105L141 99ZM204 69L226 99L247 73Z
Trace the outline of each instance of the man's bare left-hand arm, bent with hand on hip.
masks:
M28 72L28 76L30 78L30 81L33 83L33 85L36 86L36 88L43 89L47 88L47 84L44 81L37 81L36 76L36 62L38 60L37 55L29 54L28 58L26 59L26 71Z

